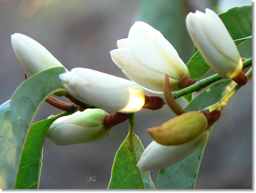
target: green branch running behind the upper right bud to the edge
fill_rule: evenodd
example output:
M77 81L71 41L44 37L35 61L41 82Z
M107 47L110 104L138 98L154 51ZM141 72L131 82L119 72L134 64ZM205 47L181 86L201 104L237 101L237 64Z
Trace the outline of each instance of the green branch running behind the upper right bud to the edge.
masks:
M247 68L251 65L252 65L252 57L243 61L243 69L245 69L245 68ZM195 91L199 91L202 88L205 88L208 85L210 85L210 84L212 84L216 81L219 81L221 79L222 79L222 77L219 76L218 74L207 77L207 78L202 79L202 80L198 81L197 83L195 83L195 84L193 84L193 85L191 85L187 88L184 88L182 90L179 90L179 91L173 93L173 96L174 96L175 99L177 99L177 98L182 97L186 94L189 94L189 93L192 93L192 92L195 92Z

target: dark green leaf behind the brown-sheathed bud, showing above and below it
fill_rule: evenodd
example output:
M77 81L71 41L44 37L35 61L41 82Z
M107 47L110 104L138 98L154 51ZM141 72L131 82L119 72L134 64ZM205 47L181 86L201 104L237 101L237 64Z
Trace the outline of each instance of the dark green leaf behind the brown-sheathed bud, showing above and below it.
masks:
M236 83L225 80L211 85L196 96L185 110L200 110L219 101L229 92ZM210 128L210 131L213 127ZM207 143L207 141L206 141ZM192 189L195 188L199 166L202 160L206 143L187 159L170 167L162 169L158 173L158 189Z

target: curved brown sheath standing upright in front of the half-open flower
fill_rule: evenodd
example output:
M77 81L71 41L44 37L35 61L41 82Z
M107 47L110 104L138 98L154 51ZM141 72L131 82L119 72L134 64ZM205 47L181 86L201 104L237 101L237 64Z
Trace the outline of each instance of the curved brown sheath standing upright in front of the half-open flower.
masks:
M181 115L187 112L186 110L181 108L181 106L176 102L175 98L173 97L171 92L171 87L169 84L169 76L167 74L165 74L163 90L164 90L164 97L165 97L166 103L176 115Z

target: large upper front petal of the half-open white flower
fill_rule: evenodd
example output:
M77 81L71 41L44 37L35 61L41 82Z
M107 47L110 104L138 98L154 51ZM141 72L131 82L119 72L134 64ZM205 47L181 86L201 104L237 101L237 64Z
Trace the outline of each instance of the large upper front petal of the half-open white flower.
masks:
M135 57L155 70L167 73L176 80L189 72L174 47L164 36L142 21L137 21L129 31L129 45Z

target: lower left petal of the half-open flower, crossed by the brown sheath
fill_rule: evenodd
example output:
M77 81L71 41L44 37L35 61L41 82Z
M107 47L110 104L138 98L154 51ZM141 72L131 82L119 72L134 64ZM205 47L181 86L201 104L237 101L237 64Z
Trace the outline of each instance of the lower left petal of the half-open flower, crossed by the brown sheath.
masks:
M123 73L140 86L156 92L163 92L164 73L141 63L132 53L131 48L119 48L110 52L112 60ZM179 81L169 78L173 91L179 90Z

